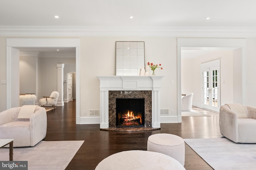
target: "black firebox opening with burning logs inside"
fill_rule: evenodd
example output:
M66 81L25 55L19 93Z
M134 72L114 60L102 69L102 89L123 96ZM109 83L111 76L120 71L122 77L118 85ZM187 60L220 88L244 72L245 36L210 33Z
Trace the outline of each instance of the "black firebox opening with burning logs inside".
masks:
M144 127L144 98L116 98L116 127Z

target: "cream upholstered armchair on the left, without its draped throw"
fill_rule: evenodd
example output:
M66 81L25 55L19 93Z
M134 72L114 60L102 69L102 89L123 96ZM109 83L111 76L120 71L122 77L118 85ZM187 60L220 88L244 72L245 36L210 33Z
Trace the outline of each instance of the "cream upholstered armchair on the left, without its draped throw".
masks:
M14 107L0 113L0 139L14 139L13 147L33 147L46 136L46 110L36 106L30 119L18 119L20 109Z

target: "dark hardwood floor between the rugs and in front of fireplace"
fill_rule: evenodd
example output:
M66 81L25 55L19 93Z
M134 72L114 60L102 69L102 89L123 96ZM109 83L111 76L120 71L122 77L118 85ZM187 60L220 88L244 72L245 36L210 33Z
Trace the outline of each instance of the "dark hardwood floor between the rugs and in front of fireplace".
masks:
M83 140L84 143L68 164L66 170L94 170L97 164L111 154L124 150L147 150L148 137L155 133L170 133L183 139L222 137L218 113L197 108L210 117L182 117L182 123L161 123L156 131L116 132L100 131L99 124L76 125L76 103L65 103L47 112L47 134L44 141ZM60 148L65 149L65 148ZM212 168L185 144L186 170Z

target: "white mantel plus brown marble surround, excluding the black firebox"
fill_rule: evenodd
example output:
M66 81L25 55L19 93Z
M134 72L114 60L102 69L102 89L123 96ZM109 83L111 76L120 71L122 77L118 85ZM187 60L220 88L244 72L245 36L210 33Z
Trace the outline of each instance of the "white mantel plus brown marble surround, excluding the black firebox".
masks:
M144 127L160 128L160 89L164 76L97 77L100 80L100 129L116 128L116 98L145 98Z

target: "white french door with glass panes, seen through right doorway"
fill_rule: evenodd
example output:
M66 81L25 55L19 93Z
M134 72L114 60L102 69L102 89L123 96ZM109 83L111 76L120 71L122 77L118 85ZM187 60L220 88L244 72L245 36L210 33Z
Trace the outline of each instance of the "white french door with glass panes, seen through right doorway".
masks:
M217 66L210 66L216 65ZM203 64L202 64L203 65ZM218 62L204 64L202 68L202 106L213 111L220 109L220 66ZM202 66L202 67L204 67Z

